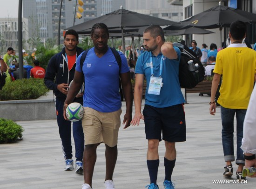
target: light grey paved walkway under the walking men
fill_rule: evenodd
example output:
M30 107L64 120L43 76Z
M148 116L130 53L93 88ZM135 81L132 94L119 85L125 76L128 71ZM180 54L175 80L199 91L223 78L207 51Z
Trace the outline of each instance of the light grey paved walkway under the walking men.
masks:
M209 115L209 99L209 96L188 94L189 104L185 105L187 141L176 144L177 160L172 176L175 189L255 188L256 179L248 178L247 183L242 184L232 183L236 182L234 176L232 179L222 177L225 164L220 109L217 109L216 116ZM17 123L25 129L23 140L0 145L0 189L81 189L83 176L76 175L74 170L63 170L64 159L56 120ZM103 144L97 150L94 189L104 189L104 150ZM143 189L149 183L144 123L126 130L121 127L118 150L114 174L116 189ZM163 189L163 142L159 152L158 184ZM236 168L235 165L234 171ZM226 183L214 184L214 181Z

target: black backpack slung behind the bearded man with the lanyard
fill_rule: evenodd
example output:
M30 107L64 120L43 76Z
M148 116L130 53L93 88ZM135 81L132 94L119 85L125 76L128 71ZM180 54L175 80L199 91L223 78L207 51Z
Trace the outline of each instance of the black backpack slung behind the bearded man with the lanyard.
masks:
M195 52L189 49L188 46L178 42L174 42L173 46L177 46L181 50L179 65L179 81L181 88L192 89L204 79L204 67L200 60L196 58ZM193 60L191 64L198 64L195 71L189 71L189 60Z

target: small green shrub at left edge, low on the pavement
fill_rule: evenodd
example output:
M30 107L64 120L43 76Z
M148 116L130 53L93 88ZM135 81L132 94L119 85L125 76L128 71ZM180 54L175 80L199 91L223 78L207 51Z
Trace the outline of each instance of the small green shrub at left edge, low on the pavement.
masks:
M10 119L0 118L0 143L11 143L22 137L23 127Z

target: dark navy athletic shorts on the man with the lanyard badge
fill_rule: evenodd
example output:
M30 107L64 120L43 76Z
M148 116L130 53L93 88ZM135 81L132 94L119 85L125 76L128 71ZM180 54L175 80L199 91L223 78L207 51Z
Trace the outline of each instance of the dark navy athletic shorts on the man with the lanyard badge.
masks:
M143 116L146 139L159 139L159 141L163 139L168 142L186 141L186 121L183 104L165 108L145 105Z

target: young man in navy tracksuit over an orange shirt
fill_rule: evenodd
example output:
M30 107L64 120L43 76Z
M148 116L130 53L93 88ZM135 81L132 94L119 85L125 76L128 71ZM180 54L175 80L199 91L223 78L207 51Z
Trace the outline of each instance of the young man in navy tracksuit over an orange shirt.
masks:
M56 96L56 115L59 126L59 133L62 142L62 150L65 158L65 170L73 170L72 145L71 145L71 121L63 117L63 104L67 97L68 85L74 78L76 58L83 52L83 49L77 47L78 33L74 30L68 30L64 36L65 47L61 52L55 54L47 65L45 74L45 85L54 91ZM54 81L55 78L55 81ZM83 93L78 94L74 102L83 104ZM83 173L83 150L84 135L81 126L81 120L73 122L73 137L76 157L76 173Z

